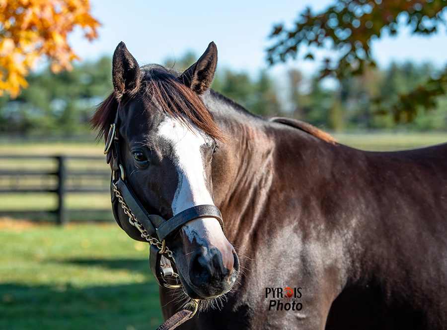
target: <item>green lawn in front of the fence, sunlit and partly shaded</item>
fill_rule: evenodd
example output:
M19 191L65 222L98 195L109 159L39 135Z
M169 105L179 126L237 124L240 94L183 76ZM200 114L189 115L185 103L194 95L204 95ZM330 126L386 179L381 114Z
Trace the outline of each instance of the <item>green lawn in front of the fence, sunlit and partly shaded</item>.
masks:
M140 330L162 322L148 244L115 223L0 221L0 329Z

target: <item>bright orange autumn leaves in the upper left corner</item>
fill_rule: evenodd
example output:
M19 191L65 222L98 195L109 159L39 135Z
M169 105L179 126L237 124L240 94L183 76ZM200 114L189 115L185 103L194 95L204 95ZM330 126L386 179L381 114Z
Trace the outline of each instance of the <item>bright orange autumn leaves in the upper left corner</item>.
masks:
M48 58L57 73L72 68L77 58L67 36L78 26L89 41L97 38L99 22L88 0L0 0L0 95L15 98L39 58Z

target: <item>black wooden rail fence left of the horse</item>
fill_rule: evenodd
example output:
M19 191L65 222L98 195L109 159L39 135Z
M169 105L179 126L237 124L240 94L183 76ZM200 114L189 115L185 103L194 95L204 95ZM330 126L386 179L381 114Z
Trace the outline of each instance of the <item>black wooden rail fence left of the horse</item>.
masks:
M111 171L105 164L105 157L89 156L30 156L0 155L0 204L3 194L39 193L56 194L57 208L53 210L5 210L0 216L39 213L55 214L59 224L70 220L66 205L66 196L70 193L110 194ZM20 203L26 205L25 197ZM106 214L110 219L111 209L82 209L83 214ZM76 212L76 211L73 211ZM91 217L86 217L91 219ZM106 219L105 219L106 220Z

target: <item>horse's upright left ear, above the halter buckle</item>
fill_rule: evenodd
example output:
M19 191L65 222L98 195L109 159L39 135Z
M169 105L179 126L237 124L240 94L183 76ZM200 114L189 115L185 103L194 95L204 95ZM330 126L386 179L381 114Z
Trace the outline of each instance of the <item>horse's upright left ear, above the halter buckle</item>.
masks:
M112 81L118 99L137 91L140 87L140 68L137 60L123 42L118 44L113 53Z

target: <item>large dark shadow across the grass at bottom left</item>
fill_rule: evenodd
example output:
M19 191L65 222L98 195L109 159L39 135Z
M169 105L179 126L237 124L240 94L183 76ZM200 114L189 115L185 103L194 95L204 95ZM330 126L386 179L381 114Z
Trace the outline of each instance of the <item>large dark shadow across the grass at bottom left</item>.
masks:
M0 285L0 329L140 330L162 323L158 285Z

